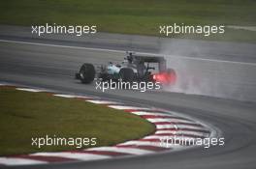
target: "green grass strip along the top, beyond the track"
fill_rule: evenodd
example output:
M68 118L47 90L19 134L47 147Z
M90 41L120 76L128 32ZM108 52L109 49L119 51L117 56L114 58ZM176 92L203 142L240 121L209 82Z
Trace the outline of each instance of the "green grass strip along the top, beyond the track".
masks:
M102 32L159 36L161 24L256 26L255 0L8 0L0 23L97 25ZM227 29L221 36L175 38L255 42L256 32Z

